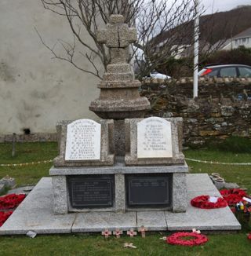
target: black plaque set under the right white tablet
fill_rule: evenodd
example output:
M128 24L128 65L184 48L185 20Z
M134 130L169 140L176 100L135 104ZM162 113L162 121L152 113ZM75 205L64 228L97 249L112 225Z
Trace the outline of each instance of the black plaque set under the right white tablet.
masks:
M170 175L128 175L126 187L129 207L169 207L171 204Z

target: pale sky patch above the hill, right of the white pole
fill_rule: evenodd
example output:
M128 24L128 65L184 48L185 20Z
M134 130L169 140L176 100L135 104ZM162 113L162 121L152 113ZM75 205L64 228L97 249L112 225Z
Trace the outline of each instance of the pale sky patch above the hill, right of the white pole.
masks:
M200 0L206 13L216 13L234 9L238 5L251 5L251 0Z

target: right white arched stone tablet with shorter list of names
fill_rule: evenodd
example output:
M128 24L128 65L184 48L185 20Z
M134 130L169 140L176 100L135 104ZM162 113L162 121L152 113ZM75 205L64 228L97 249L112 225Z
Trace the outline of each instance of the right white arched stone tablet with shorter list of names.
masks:
M137 158L173 157L171 123L149 117L137 123Z

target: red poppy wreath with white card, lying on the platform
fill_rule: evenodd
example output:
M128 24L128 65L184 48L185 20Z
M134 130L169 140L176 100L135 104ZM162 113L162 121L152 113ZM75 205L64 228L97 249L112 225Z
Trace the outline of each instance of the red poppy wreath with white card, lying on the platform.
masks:
M191 199L191 205L193 207L202 208L202 209L214 209L227 207L227 201L223 198L218 197L216 203L209 201L210 196L197 196L194 199Z

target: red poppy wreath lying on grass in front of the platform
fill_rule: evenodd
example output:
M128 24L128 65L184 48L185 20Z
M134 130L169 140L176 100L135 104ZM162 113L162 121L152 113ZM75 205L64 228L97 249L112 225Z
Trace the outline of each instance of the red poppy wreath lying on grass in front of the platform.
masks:
M186 237L192 237L189 240L185 240ZM193 247L206 243L208 238L205 235L198 234L197 232L176 232L171 236L166 237L166 243L184 245L187 247Z

